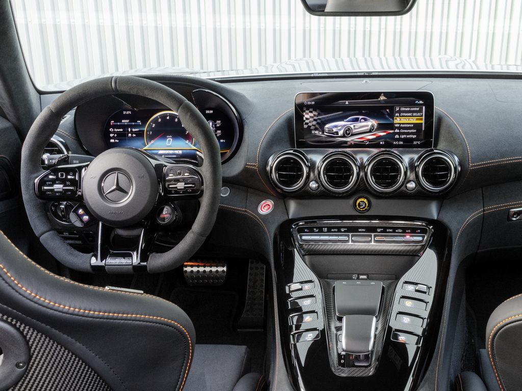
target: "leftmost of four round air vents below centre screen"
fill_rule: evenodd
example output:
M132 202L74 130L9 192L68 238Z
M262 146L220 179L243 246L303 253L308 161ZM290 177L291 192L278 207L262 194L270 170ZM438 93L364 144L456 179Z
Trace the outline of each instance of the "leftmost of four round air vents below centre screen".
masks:
M270 163L270 178L283 191L296 191L303 187L309 174L309 163L296 151L276 155Z

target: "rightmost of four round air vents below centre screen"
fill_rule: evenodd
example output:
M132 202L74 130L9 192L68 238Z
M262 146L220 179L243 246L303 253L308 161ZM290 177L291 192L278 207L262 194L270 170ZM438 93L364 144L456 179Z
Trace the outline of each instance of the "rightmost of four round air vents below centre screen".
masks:
M428 191L443 191L453 185L457 177L455 161L443 152L430 152L417 163L417 180Z

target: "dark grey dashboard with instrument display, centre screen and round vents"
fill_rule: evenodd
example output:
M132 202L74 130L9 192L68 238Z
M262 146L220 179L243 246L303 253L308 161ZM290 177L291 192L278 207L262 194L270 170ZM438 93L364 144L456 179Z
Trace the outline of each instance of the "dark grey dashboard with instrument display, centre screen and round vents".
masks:
M513 80L303 76L217 82L169 75L148 78L181 93L210 121L220 142L224 182L271 197L347 198L352 202L366 194L440 199L522 175L517 158L522 139L513 132L520 124L514 113L522 101L516 93L519 83ZM456 83L458 91L453 89ZM44 96L43 104L53 96ZM408 108L398 116L405 119L397 121L392 116L397 106ZM200 153L197 140L175 122L175 115L167 119L171 125L166 132L156 131L158 120L165 118L158 114L165 111L168 108L158 102L135 96L104 96L78 106L56 137L75 154L96 156L117 144L146 148L172 160L193 161ZM317 120L314 111L324 115L315 128L309 128ZM494 116L486 114L492 111ZM352 124L346 121L350 117L358 117L357 124L370 120L369 129L352 128L350 136L336 135L338 123L346 123L342 130L350 131L344 129ZM325 128L332 128L334 134L326 135ZM402 130L396 132L398 129ZM298 175L281 177L286 179L282 183L279 171L272 168L278 157L287 154L289 160L278 163L291 163L288 168ZM394 168L401 179L397 188L394 182L383 191L379 185L383 182L372 178L370 164L382 155L387 159L377 167L381 171ZM430 164L425 167L423 162ZM445 169L443 178L437 178L437 162ZM432 170L432 178L426 180L423 170L425 174ZM340 180L332 185L331 177L334 182Z

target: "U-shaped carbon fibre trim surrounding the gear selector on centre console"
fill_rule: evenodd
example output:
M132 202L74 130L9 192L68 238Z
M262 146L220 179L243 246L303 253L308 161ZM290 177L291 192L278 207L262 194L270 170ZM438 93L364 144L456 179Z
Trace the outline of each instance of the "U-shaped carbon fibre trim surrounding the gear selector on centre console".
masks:
M384 298L383 306L379 312L379 319L377 322L377 332L375 337L374 350L372 353L371 365L367 368L342 368L337 363L337 343L336 333L341 331L342 323L337 322L335 317L335 301L334 301L334 285L335 280L321 279L321 286L323 288L323 297L325 303L326 323L325 329L328 331L326 338L328 340L328 356L330 358L331 370L338 376L371 376L377 370L377 364L381 358L383 349L384 336L386 335L386 328L388 323L388 317L390 313L390 307L392 307L392 299L394 297L394 288L397 284L396 281L383 281L384 287Z

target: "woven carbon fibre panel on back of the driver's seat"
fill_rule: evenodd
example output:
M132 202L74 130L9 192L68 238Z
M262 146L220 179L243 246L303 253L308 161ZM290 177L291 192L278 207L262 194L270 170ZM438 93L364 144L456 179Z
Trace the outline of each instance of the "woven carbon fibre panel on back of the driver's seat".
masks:
M9 391L111 390L89 365L71 351L16 319L2 314L0 318L19 329L31 350L26 374Z

